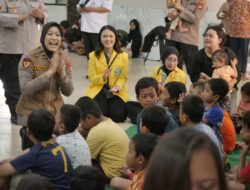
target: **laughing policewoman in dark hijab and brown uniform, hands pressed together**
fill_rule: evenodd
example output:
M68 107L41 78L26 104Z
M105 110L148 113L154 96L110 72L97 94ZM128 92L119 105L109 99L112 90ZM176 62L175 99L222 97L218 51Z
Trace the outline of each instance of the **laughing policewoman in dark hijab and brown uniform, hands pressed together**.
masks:
M22 126L26 126L27 117L34 110L47 109L55 115L63 105L61 93L69 96L73 92L71 62L61 50L60 25L55 22L44 25L40 42L41 46L24 54L19 63L21 97L16 112Z

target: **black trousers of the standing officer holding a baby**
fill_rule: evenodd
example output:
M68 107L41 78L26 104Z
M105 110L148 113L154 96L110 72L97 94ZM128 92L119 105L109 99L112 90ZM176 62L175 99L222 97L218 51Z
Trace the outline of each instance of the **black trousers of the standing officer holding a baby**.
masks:
M198 46L190 45L190 44L184 44L184 43L176 42L176 41L173 41L173 40L167 40L166 41L166 47L167 46L174 46L179 50L180 55L181 55L181 59L186 65L187 73L189 74L190 78L192 79L191 68L192 68L192 64L193 64L193 61L194 61L194 56L198 52Z

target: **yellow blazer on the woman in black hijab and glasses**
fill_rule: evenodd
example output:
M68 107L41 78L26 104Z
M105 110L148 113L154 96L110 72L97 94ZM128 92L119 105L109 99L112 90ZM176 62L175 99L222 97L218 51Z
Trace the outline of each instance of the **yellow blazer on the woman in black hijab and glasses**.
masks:
M177 81L177 82L181 82L181 83L186 85L187 75L180 68L176 67L171 73L169 73L169 75L166 77L165 80L164 80L165 77L163 77L165 75L165 73L163 72L162 69L160 69L160 71L159 71L159 68L160 68L159 66L156 66L153 69L153 78L155 78L158 83L166 84L166 83L171 82L171 81Z

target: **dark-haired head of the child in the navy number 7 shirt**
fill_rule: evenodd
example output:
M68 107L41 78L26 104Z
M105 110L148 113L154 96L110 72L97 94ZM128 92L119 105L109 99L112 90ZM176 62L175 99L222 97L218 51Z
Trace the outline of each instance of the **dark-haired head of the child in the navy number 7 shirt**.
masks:
M28 116L27 128L29 138L34 141L47 141L52 138L55 126L55 118L47 110L40 109L33 111Z

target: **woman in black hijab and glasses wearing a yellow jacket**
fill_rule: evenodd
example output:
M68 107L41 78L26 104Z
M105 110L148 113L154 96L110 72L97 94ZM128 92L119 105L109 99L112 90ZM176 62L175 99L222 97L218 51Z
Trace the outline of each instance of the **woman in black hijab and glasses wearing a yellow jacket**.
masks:
M171 81L186 84L187 75L178 68L180 62L179 52L175 47L166 47L162 54L162 66L156 66L153 69L153 78L159 84L159 89L164 89L164 85Z

